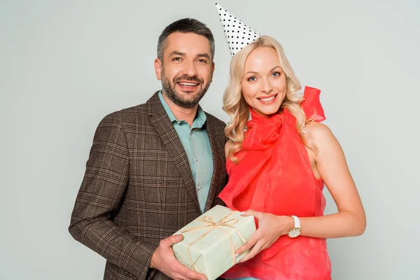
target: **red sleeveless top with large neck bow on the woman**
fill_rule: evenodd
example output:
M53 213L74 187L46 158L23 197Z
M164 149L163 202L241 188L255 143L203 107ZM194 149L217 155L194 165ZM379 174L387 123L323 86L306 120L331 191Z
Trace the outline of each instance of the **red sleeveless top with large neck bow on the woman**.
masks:
M305 87L302 109L307 118L325 120L320 90ZM231 209L253 209L279 216L323 216L323 181L316 179L309 154L287 109L266 118L252 109L239 163L229 158L228 185L219 197ZM223 274L225 279L253 277L279 280L330 280L330 258L325 239L281 236L254 258Z

